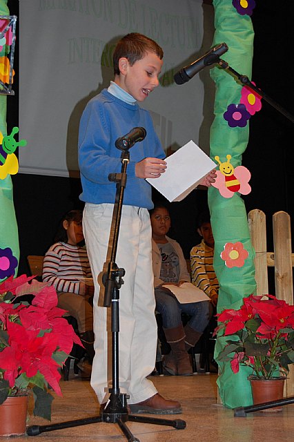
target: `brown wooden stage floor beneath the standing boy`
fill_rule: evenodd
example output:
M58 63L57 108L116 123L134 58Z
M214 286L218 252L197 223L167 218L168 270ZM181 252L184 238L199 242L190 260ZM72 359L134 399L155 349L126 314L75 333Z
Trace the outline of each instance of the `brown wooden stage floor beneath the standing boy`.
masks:
M175 430L173 427L128 422L128 428L140 442L293 441L293 404L284 406L282 412L278 413L255 412L245 418L236 418L233 410L217 405L216 374L151 378L163 396L179 400L183 408L182 414L155 417L183 419L186 421L186 428ZM52 403L52 424L99 415L99 404L89 381L82 381L80 377L71 374L70 381L61 381L61 390L63 397L55 396ZM48 425L48 421L30 415L28 425ZM70 427L44 432L30 439L34 438L36 442L127 440L117 423ZM14 440L28 442L28 436L19 436Z

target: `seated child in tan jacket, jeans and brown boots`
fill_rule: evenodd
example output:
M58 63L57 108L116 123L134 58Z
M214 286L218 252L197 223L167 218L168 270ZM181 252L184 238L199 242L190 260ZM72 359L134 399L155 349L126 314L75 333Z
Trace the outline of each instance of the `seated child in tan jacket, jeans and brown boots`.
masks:
M168 238L170 214L165 206L155 205L150 211L152 227L152 257L155 283L156 310L162 317L166 340L171 351L164 358L164 368L174 375L193 374L188 356L208 325L208 301L180 303L167 287L190 282L186 260L181 246ZM183 327L182 312L190 316Z

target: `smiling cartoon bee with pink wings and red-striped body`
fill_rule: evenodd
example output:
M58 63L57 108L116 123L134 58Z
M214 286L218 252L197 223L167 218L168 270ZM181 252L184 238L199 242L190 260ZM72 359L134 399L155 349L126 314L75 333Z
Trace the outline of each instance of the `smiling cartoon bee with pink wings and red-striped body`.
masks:
M248 181L251 179L251 173L244 166L237 166L235 169L230 163L231 155L226 155L226 162L221 162L219 156L215 160L219 163L219 171L217 177L212 184L213 187L219 189L219 193L224 198L232 198L235 192L248 195L251 192L251 186Z

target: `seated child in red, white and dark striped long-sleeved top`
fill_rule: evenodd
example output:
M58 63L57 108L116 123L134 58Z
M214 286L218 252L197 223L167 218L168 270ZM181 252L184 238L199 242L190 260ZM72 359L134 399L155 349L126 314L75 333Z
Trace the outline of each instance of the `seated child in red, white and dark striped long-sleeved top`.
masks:
M55 244L46 252L42 278L55 287L58 307L77 319L79 336L88 354L88 360L80 361L78 367L82 374L90 376L94 357L93 309L90 302L94 289L83 281L92 278L92 274L84 246L82 216L80 210L72 210L63 216Z

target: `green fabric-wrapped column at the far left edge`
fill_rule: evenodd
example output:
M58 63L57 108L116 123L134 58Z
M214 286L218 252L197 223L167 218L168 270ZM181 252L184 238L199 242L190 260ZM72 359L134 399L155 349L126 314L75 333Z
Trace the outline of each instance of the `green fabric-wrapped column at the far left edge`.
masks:
M0 0L0 15L9 15L7 0ZM4 50L3 48L2 51ZM0 94L0 131L3 137L7 135L6 101L7 96ZM19 261L19 233L10 175L7 175L4 180L0 179L0 212L0 249L9 247L12 250L12 255ZM16 273L17 269L15 269Z

